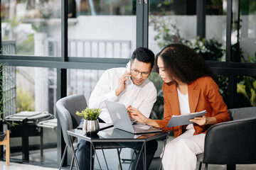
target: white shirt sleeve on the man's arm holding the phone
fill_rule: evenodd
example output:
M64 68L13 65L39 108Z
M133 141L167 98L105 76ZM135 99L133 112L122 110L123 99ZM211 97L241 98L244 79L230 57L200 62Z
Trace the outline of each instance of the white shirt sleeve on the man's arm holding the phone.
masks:
M113 87L113 75L107 70L102 74L89 98L89 108L105 108L105 100L115 101L117 96Z

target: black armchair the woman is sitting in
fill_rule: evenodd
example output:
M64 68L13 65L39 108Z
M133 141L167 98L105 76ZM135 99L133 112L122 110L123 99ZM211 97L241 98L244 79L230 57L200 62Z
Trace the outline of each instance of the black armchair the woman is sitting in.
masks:
M202 163L227 164L235 170L235 164L256 164L256 107L230 109L231 121L219 123L206 133L203 154L198 154L199 170Z

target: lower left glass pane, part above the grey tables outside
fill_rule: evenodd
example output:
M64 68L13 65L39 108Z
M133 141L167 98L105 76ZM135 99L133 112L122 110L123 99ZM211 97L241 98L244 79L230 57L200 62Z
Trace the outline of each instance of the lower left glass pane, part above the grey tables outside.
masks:
M41 67L3 67L4 116L21 111L55 115L56 69Z

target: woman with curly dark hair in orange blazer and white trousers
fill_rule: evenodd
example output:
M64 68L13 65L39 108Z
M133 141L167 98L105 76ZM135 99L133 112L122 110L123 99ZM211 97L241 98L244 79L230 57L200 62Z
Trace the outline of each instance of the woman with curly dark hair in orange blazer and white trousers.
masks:
M186 45L164 47L156 55L156 72L164 81L164 120L146 118L129 107L130 117L139 123L166 130L174 130L175 139L166 144L162 153L164 169L196 169L196 154L204 149L210 125L230 120L228 108L220 96L213 72L194 50ZM166 128L172 115L206 110L202 118L194 118L189 125Z

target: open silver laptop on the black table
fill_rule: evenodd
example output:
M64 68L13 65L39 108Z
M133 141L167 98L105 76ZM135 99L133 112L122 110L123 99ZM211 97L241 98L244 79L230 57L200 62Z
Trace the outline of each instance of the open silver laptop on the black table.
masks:
M133 134L162 132L162 130L159 128L153 128L149 125L143 125L141 123L138 125L132 125L124 104L112 101L105 101L105 103L107 110L110 113L110 118L112 119L114 128L131 132Z

